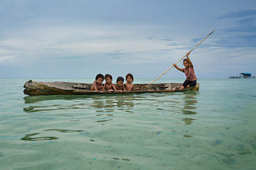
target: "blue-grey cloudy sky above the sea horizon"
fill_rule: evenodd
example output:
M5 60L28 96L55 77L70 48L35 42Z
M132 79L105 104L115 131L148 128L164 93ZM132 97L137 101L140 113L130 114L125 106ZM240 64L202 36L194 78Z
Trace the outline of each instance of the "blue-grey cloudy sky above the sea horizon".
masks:
M256 75L254 0L0 0L0 78L156 78L213 30L197 78Z

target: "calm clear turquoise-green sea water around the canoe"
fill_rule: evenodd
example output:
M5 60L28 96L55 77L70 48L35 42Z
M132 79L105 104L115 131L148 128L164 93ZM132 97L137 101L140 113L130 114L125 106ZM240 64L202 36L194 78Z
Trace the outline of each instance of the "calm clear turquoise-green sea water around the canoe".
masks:
M0 169L256 169L256 79L199 79L199 91L176 93L53 96L24 95L27 80L0 79Z

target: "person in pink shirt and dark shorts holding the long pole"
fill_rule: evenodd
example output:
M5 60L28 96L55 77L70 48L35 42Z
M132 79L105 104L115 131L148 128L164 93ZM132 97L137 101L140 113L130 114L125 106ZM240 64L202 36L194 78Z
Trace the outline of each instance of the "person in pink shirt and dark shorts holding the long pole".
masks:
M179 68L176 64L173 64L173 67L177 68L181 72L184 72L187 77L185 82L180 87L180 90L183 88L189 88L189 87L195 86L197 84L197 77L194 74L194 67L188 55L190 55L190 53L187 53L187 59L183 60L183 65L185 66L185 68L182 69L182 68Z

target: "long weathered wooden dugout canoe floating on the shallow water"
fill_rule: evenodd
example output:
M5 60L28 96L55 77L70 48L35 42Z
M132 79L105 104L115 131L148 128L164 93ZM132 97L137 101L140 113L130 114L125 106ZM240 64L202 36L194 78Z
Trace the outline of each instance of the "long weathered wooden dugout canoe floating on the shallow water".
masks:
M119 93L159 93L159 92L175 92L187 90L199 90L199 83L196 86L180 88L182 83L159 83L159 84L134 84L134 88L140 88L137 91L90 91L92 84L73 83L73 82L33 82L27 81L24 84L24 94L27 95L84 95L84 94L119 94Z

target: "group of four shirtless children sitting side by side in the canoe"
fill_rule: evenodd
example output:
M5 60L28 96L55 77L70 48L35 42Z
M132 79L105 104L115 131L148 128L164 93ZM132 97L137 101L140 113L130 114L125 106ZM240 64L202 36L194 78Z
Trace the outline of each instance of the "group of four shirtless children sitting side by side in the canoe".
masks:
M104 86L102 85L103 79L105 79ZM91 86L92 91L136 91L139 88L133 89L134 84L133 82L133 75L128 73L126 75L126 84L123 84L124 79L123 77L117 77L116 79L116 85L112 83L112 76L109 74L106 74L105 77L102 74L98 74L95 78L95 81L93 82Z

